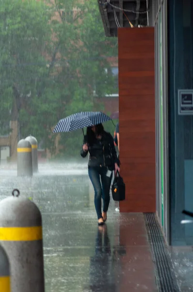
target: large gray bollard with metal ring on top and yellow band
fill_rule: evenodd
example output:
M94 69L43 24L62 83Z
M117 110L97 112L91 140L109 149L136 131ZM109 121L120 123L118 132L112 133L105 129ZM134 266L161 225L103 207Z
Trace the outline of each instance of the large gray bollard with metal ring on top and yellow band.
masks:
M30 200L13 196L0 201L0 244L10 261L12 292L44 292L42 217Z

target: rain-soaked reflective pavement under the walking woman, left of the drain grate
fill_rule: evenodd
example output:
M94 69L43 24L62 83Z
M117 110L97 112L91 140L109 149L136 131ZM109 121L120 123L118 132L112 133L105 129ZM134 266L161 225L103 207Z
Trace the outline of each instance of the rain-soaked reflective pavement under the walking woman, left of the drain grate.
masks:
M32 179L0 169L0 200L14 188L42 212L46 292L157 292L143 214L119 214L111 199L97 226L85 165L40 165Z

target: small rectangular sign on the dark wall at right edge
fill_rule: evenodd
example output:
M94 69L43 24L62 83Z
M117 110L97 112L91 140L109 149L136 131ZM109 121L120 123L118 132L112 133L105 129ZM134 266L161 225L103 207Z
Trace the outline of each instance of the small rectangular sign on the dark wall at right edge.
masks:
M178 89L178 114L193 115L193 89Z

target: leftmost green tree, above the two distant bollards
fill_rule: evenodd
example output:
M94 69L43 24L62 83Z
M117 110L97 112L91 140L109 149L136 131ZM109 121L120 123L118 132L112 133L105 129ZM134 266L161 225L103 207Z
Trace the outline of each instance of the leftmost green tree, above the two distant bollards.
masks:
M43 52L51 37L49 18L41 1L0 0L1 124L14 118L22 128L22 111L28 119L31 115L31 101L47 70Z

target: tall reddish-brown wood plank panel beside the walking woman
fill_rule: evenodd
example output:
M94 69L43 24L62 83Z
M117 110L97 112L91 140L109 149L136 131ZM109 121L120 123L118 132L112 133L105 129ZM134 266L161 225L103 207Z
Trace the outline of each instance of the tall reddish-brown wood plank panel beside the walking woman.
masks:
M120 212L156 211L154 28L118 29L119 135L126 200Z

